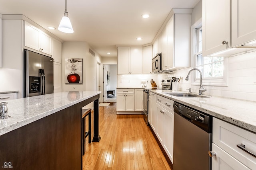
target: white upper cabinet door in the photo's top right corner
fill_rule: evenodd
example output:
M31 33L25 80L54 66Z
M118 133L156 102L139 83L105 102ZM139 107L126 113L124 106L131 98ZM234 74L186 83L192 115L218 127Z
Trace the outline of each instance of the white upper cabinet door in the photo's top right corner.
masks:
M232 0L232 47L256 39L256 0Z

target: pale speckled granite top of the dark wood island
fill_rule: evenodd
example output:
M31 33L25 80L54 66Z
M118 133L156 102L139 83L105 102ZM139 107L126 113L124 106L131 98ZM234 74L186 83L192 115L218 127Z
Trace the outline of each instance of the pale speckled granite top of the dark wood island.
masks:
M9 100L8 119L0 119L0 135L96 96L101 92L59 92Z

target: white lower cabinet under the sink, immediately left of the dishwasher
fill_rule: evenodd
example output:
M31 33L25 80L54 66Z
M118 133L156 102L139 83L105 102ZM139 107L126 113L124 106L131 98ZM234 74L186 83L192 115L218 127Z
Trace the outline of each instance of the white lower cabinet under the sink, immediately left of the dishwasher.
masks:
M156 136L173 162L174 101L156 96Z

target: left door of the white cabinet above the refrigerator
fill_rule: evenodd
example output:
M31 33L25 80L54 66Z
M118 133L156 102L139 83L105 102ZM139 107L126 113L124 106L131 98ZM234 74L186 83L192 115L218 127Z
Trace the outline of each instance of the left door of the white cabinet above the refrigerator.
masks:
M24 45L26 47L30 47L39 51L40 44L39 44L39 35L40 31L31 25L30 23L25 22L25 35L24 35Z

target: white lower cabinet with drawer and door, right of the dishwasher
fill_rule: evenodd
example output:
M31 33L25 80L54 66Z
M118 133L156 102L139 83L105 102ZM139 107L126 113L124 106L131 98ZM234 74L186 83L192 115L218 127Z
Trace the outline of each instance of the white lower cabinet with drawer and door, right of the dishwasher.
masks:
M212 142L212 170L256 169L255 133L213 118Z

